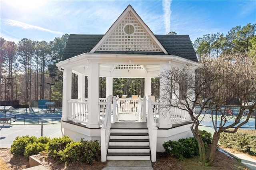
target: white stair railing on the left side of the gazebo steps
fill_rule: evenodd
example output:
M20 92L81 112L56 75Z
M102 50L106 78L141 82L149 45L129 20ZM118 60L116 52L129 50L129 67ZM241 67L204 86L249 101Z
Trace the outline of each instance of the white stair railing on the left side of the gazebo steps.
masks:
M100 128L100 143L101 143L101 161L107 161L108 143L110 138L111 128L111 99L108 99L106 107L106 116L102 128Z

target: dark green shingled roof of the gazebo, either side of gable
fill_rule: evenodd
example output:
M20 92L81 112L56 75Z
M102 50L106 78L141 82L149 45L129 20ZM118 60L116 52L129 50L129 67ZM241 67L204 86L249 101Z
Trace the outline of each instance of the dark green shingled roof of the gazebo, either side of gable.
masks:
M76 55L89 52L104 35L79 35L70 34L66 44L62 61ZM155 35L170 55L176 55L185 59L198 62L196 53L188 35ZM164 55L162 52L143 51L95 51L95 53L114 54L144 54L144 55Z

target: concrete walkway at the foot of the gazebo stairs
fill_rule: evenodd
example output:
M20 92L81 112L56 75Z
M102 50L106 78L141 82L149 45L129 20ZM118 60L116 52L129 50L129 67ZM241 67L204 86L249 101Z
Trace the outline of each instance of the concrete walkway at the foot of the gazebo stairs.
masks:
M150 160L108 160L103 170L153 170Z

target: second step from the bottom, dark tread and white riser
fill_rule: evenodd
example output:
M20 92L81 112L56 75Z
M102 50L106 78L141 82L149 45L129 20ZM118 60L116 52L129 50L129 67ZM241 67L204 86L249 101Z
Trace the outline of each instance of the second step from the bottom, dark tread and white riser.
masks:
M108 153L149 153L149 146L109 146Z

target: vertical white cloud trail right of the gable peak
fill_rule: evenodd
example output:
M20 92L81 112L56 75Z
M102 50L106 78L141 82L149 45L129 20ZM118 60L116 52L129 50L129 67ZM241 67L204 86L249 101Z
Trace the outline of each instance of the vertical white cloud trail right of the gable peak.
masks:
M171 14L172 14L171 3L172 3L172 0L163 0L164 25L165 25L166 34L170 32L170 26L171 26Z

